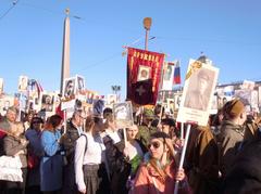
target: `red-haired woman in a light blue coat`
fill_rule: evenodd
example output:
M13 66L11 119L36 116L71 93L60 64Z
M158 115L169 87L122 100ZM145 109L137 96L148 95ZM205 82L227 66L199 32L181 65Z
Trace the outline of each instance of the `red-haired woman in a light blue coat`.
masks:
M63 156L60 146L62 117L52 115L42 131L45 156L40 161L40 189L44 193L59 193L62 189Z

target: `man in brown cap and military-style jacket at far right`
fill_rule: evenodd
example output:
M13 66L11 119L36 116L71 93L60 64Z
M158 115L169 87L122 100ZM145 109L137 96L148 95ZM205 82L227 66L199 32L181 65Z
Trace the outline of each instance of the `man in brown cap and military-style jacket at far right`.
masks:
M225 178L240 150L244 140L243 126L247 119L247 114L244 103L238 99L228 101L223 107L223 113L224 118L219 139L221 141L220 170L222 178Z

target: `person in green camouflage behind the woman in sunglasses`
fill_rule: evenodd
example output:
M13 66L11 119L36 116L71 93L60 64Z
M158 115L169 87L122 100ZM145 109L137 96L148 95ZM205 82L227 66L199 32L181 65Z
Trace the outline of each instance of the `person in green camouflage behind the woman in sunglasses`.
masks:
M150 134L157 131L156 127L151 127L151 121L153 120L153 111L145 108L142 113L142 124L138 126L139 132L137 134L137 139L140 140L144 145L148 145Z

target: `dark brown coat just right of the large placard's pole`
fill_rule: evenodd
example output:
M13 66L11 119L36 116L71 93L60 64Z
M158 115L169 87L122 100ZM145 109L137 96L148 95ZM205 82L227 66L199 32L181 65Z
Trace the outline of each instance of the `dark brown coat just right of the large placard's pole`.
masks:
M219 148L209 127L191 130L185 164L195 194L219 193Z

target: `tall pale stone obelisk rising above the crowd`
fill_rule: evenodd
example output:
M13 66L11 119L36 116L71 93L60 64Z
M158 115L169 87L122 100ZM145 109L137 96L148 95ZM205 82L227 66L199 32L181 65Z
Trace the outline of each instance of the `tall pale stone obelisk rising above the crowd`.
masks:
M63 30L63 52L62 52L62 70L61 70L61 86L60 92L63 91L63 81L65 78L70 77L70 10L65 11L66 17L64 20L64 30Z

